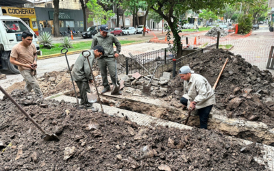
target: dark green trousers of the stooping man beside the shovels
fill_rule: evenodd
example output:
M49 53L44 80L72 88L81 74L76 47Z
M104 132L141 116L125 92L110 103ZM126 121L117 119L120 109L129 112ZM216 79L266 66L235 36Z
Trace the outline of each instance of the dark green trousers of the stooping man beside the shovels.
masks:
M90 93L90 86L88 85L88 81L75 81L75 83L80 90L80 104L86 107L92 106L93 103L88 102L88 96L86 95L86 92Z

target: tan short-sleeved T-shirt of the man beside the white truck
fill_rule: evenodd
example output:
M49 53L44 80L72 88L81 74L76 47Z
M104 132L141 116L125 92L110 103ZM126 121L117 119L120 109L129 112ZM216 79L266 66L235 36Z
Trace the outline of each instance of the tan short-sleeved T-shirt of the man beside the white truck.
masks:
M33 43L29 47L24 47L21 43L18 43L12 48L10 56L16 58L22 64L33 64L35 53L36 47ZM18 66L18 70L29 70L29 68Z

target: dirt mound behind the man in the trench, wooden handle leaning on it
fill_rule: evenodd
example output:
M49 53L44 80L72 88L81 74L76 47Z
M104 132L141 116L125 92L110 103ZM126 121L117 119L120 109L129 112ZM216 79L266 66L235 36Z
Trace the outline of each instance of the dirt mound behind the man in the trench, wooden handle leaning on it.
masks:
M274 83L269 70L260 70L240 55L222 49L214 49L192 58L190 68L206 77L213 87L227 58L229 61L215 90L215 107L229 111L229 117L258 120L274 127ZM182 95L184 90L183 85L184 81L178 75L170 81L169 93L180 98L179 95Z

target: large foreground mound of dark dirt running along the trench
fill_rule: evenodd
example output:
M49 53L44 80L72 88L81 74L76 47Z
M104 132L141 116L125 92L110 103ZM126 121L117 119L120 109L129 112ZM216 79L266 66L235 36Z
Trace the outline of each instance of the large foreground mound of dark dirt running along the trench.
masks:
M127 117L77 110L32 93L15 90L12 96L60 141L43 141L34 124L4 97L0 170L266 170L253 159L262 156L259 146L241 146L213 131L140 127Z

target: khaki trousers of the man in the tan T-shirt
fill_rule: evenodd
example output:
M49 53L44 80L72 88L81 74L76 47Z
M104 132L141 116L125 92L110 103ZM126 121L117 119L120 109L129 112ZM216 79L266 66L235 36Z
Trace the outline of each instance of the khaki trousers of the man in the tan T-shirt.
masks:
M40 90L40 87L38 85L38 81L36 78L36 75L32 75L31 74L31 70L20 70L21 75L23 76L23 78L25 79L26 85L25 85L25 90L27 90L27 92L30 92L32 90L34 90L35 94L38 97L42 97L42 92Z

